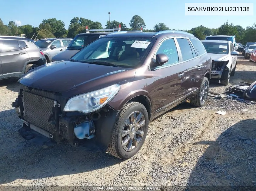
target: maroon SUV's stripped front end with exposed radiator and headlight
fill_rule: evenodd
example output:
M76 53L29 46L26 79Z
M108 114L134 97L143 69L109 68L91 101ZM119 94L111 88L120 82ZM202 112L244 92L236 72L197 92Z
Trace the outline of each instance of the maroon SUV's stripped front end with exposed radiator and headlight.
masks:
M118 115L118 111L107 105L107 101L116 94L109 91L99 90L99 95L95 91L69 99L60 93L22 85L17 99L12 103L18 117L24 122L19 133L28 142L37 145L68 142L78 146L92 139L106 148ZM118 92L119 89L114 91ZM82 110L86 104L91 105L91 108L87 107L91 111Z

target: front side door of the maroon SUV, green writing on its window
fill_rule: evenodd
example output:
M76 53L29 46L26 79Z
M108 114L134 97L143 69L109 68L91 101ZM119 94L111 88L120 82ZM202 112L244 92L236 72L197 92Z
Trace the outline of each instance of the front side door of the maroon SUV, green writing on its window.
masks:
M184 81L181 75L184 73L184 67L179 62L174 38L161 41L152 59L153 62L155 62L156 55L160 53L166 54L169 60L162 66L151 68L155 79L155 104L153 110L156 113L168 110L169 106L171 107L179 102L183 92L182 83Z

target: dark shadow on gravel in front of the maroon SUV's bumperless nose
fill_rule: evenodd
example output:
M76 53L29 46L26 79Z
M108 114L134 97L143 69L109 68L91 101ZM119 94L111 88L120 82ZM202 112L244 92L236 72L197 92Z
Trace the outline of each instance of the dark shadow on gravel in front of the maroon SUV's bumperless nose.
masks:
M18 134L22 122L13 109L0 112L0 119L0 184L89 172L121 162L105 151L88 152L64 143L47 148L30 144Z

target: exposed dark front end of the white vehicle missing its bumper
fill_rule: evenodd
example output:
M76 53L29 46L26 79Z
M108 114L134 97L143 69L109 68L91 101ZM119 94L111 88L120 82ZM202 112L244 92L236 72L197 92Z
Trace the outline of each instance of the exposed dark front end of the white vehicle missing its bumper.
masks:
M228 77L229 68L227 61L214 61L211 62L211 80L224 80Z

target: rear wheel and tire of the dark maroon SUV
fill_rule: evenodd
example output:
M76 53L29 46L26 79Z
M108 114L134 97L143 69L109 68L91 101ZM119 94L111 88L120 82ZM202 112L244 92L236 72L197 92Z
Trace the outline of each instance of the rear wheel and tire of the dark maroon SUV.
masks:
M193 106L196 107L203 107L206 103L207 97L208 97L208 92L209 92L209 80L208 78L204 77L199 92L196 94L195 97L190 99L190 103ZM202 101L202 95L204 94L204 99Z

